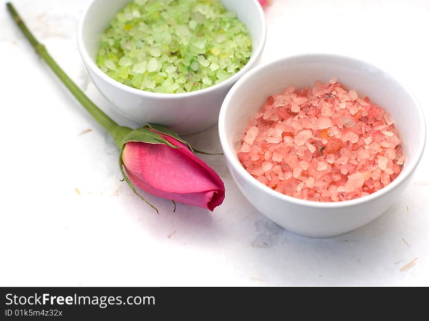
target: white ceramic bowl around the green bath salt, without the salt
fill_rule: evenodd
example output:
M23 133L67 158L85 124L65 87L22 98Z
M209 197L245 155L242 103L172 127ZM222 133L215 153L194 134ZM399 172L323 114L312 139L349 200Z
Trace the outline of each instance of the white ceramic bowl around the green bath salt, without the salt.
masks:
M265 16L257 0L222 0L235 10L253 39L249 62L231 78L206 89L183 94L157 94L123 85L105 75L95 59L100 35L115 14L130 0L94 0L78 27L78 48L83 63L103 96L127 118L144 124L152 122L180 134L202 131L217 122L220 106L231 86L254 67L265 45ZM243 5L243 2L246 2Z

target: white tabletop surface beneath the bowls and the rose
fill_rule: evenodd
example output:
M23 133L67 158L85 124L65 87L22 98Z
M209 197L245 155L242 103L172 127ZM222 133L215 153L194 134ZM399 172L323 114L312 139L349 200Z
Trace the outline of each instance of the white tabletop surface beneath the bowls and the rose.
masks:
M241 0L245 3L246 0ZM79 106L0 10L0 285L429 285L429 150L379 219L311 239L273 225L240 194L223 156L203 156L225 182L214 213L125 183L108 134ZM76 45L89 0L14 0L63 69L117 122ZM429 119L429 1L273 0L263 62L309 52L368 60L408 83ZM79 133L92 129L92 132ZM216 128L187 137L220 151ZM80 191L80 195L75 189ZM405 241L404 241L405 240ZM415 265L400 269L413 259Z

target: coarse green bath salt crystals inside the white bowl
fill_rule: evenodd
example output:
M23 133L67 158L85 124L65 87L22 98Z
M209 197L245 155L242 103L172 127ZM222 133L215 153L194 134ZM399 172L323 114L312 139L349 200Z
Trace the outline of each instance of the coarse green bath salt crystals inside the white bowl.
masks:
M246 26L220 0L133 0L100 37L98 67L155 93L204 89L249 61Z

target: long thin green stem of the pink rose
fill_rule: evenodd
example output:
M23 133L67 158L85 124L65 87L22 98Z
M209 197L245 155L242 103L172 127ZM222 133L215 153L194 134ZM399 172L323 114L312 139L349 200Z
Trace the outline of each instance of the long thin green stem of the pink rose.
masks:
M31 45L36 50L36 53L46 61L46 63L51 67L52 71L59 77L61 82L68 88L68 90L78 99L80 104L90 113L98 123L103 126L115 139L117 145L120 147L120 144L125 137L125 135L131 131L131 129L119 126L112 118L110 118L106 113L99 109L81 90L80 88L67 76L66 73L59 67L55 60L49 55L45 46L41 44L28 30L24 21L21 19L18 12L15 10L12 3L6 3L7 10L11 14L15 23L18 25L25 38L31 43Z

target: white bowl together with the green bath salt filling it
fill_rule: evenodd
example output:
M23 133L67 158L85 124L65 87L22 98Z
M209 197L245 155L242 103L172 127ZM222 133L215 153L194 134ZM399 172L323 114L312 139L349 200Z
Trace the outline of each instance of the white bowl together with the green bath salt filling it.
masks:
M186 134L217 122L265 37L257 0L94 0L79 23L78 47L120 113Z

